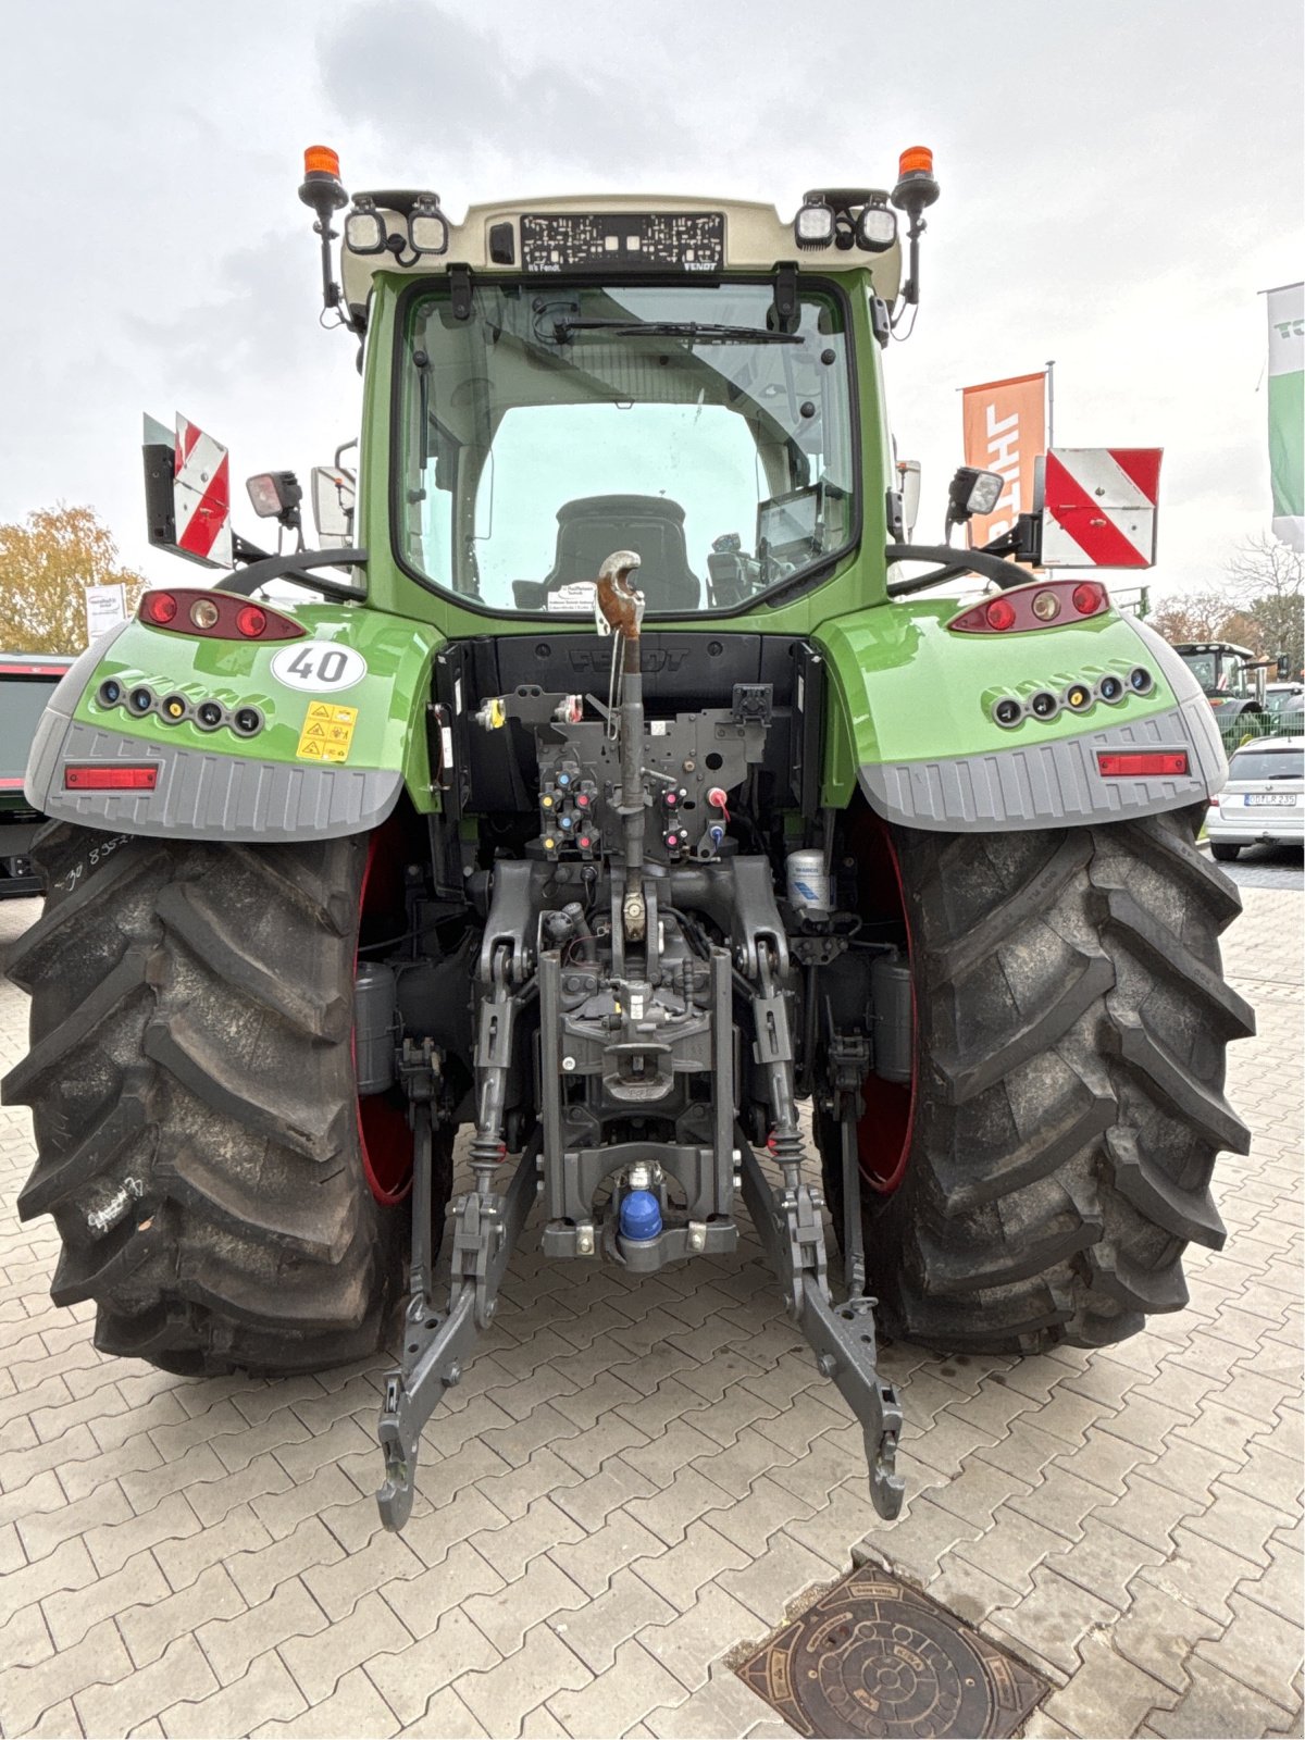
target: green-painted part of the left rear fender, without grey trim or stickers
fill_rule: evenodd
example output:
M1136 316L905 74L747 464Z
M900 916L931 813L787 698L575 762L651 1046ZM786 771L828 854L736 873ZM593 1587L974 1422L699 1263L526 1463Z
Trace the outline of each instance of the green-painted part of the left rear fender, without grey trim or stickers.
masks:
M360 652L367 661L362 680L322 694L291 689L271 675L271 659L299 642L209 640L132 621L96 666L73 717L146 743L306 766L298 750L310 703L339 703L357 708L345 766L402 773L414 806L423 813L435 809L425 708L430 666L442 637L428 623L357 604L278 604L275 609L303 623L310 639L338 640ZM254 738L237 738L226 727L200 731L188 720L171 726L157 713L136 719L124 706L101 706L96 699L106 677L117 677L124 689L148 684L155 694L177 693L195 705L216 699L228 708L258 706L266 724Z

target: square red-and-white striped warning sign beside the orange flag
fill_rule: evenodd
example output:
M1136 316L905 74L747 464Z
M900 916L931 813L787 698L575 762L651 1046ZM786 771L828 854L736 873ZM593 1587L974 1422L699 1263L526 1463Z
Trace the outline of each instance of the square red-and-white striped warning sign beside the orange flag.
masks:
M1053 447L1042 567L1152 567L1162 447Z

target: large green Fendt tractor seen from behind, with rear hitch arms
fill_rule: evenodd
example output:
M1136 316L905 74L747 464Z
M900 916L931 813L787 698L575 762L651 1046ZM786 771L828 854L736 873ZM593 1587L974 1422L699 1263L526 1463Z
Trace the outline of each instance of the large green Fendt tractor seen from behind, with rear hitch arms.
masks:
M926 151L793 223L378 191L338 237L324 148L301 197L357 478L315 473L322 546L148 592L28 766L5 1098L52 1296L193 1375L353 1361L402 1315L398 1528L536 1199L546 1258L635 1274L734 1251L741 1202L894 1516L877 1331L1098 1347L1223 1239L1251 1013L1194 847L1209 706L1098 579L1018 566L1041 512L910 541L882 357ZM204 440L146 477L157 541L212 560ZM948 539L1002 482L957 473ZM251 496L298 522L291 473Z

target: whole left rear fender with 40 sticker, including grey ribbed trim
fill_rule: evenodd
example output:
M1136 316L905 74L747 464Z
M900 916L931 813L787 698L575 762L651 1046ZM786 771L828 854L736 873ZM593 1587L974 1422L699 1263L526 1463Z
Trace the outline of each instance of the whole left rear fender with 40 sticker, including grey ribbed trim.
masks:
M132 621L84 654L38 727L31 802L124 833L235 840L353 833L404 790L418 811L435 809L426 703L442 635L348 604L278 609L301 639L216 640ZM143 717L108 705L106 682L124 698L144 687L158 705ZM184 706L176 722L162 705L172 698ZM216 729L200 724L204 703L223 710ZM247 736L233 729L242 710L258 715ZM113 762L153 764L153 788L70 788L70 766Z

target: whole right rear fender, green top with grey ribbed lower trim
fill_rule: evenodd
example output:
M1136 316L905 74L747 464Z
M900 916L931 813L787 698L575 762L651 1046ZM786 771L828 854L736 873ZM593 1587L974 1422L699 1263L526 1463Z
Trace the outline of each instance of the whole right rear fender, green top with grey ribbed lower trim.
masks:
M973 602L973 597L966 602ZM860 786L884 820L917 828L1006 830L1098 823L1209 799L1227 762L1209 705L1183 661L1145 623L1107 611L1063 628L955 633L957 599L914 599L826 621L832 717L825 802ZM1129 675L1141 666L1150 687ZM1114 705L1061 705L1053 719L994 719L1002 696L1061 703L1075 684L1124 680ZM1162 776L1110 776L1098 753L1166 752Z

